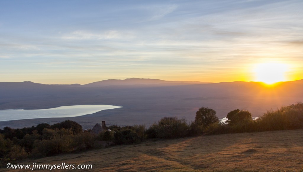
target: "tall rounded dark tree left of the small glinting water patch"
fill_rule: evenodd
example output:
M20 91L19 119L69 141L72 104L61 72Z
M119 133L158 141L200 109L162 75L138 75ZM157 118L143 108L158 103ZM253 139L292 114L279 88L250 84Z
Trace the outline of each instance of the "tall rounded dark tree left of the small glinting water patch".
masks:
M196 112L195 122L198 125L203 125L203 127L207 127L210 124L217 122L218 120L219 119L216 116L216 111L208 107L201 107Z

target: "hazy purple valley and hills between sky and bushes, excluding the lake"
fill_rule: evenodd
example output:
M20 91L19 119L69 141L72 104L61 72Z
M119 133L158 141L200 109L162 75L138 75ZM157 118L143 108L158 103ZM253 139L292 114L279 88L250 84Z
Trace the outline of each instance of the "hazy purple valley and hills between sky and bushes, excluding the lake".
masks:
M303 80L266 85L261 82L183 82L131 78L104 80L86 85L46 85L32 82L0 83L0 109L48 109L71 105L113 105L122 108L77 117L2 121L0 126L23 128L38 123L74 120L91 128L105 120L108 125L157 122L164 116L193 121L195 112L209 107L219 118L234 109L245 109L253 117L303 98Z

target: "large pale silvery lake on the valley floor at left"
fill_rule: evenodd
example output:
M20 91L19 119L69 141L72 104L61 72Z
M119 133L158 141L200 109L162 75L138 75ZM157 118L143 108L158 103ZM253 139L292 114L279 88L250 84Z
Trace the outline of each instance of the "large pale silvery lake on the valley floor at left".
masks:
M121 107L122 106L111 105L75 105L37 110L8 109L0 110L0 121L24 120L34 118L74 117L96 113L101 110Z

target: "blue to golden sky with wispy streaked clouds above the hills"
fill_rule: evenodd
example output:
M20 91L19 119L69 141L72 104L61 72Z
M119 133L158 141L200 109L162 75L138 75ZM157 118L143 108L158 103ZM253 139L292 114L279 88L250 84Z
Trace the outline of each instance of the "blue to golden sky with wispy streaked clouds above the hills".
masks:
M302 0L1 0L0 82L257 81L256 66L268 63L288 66L285 81L303 79L302 7Z

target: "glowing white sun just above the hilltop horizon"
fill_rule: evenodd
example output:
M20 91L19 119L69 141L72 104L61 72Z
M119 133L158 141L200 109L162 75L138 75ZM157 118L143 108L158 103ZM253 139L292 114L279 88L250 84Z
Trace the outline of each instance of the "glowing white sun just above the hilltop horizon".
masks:
M283 63L260 63L255 66L256 81L273 84L286 81L288 67Z

